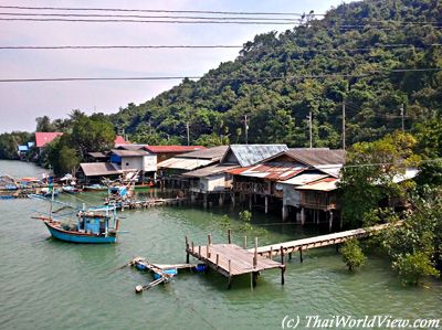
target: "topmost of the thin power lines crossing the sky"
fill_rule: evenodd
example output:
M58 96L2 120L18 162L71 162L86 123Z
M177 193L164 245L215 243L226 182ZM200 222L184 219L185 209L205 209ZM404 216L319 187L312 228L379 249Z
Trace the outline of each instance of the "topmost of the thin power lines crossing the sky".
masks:
M122 9L122 8L71 8L71 7L24 7L24 6L0 6L3 9L19 10L56 10L56 11L119 11L119 12L157 12L157 13L208 13L208 14L234 14L234 15L295 15L305 17L301 12L264 12L264 11L213 11L213 10L165 10L165 9ZM308 13L313 17L325 14Z

